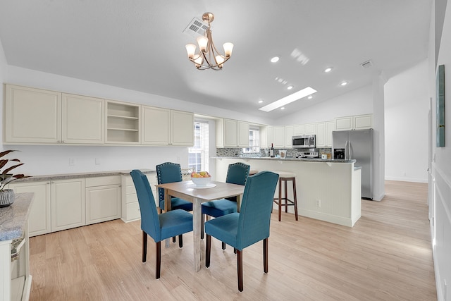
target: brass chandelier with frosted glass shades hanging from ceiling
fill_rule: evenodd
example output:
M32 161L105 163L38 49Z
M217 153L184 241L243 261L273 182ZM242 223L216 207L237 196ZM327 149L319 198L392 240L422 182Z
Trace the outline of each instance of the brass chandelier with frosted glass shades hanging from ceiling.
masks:
M205 30L205 35L197 37L197 44L199 44L199 53L196 54L196 45L187 44L186 51L188 59L194 63L198 70L213 69L221 70L223 64L232 56L233 44L230 42L224 43L224 55L220 54L218 49L214 46L211 38L210 23L214 20L213 13L204 13L202 20L208 23L209 27Z

